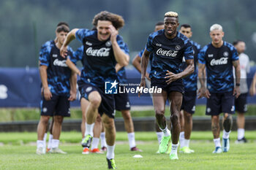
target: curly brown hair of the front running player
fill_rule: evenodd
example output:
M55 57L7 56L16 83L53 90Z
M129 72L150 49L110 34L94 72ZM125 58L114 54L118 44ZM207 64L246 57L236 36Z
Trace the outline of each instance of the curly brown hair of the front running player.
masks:
M109 20L116 29L124 26L124 18L121 15L116 15L108 11L102 11L95 15L92 24L97 26L98 20Z

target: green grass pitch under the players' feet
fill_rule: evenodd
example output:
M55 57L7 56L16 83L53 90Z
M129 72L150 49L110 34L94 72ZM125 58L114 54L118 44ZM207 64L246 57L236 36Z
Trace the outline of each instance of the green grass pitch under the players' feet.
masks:
M154 132L135 133L137 145L143 152L129 151L127 134L116 135L116 165L118 169L255 169L255 131L246 131L247 144L235 144L236 132L231 133L230 152L214 155L210 131L192 132L190 147L195 153L178 154L178 161L170 161L167 154L156 154L157 137ZM36 133L0 133L0 169L107 169L104 155L82 155L80 133L61 134L60 148L67 155L36 155ZM31 143L33 142L33 143ZM132 158L140 154L143 158Z

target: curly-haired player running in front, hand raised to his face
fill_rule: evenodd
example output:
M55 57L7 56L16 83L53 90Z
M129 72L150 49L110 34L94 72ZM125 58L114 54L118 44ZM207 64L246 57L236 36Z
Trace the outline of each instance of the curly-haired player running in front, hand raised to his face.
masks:
M118 35L118 29L124 26L124 19L120 15L103 11L94 16L93 25L96 26L96 31L78 28L70 31L61 47L61 55L66 55L67 45L73 39L76 38L83 43L84 67L78 85L81 100L89 101L86 109L86 147L91 146L94 122L99 112L105 127L108 169L116 169L114 161L115 102L113 95L105 94L104 86L105 82L113 82L115 85L116 63L121 66L127 66L129 63L129 55L124 50L125 43Z

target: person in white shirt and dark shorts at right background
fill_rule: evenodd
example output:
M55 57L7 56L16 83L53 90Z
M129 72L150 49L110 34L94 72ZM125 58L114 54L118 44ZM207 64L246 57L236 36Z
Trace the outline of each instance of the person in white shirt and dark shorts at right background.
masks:
M240 91L241 95L236 98L235 100L235 107L236 112L238 113L236 118L236 124L238 126L238 136L236 143L246 143L247 140L244 137L244 113L247 111L247 95L248 95L248 87L247 87L247 76L246 74L250 71L249 66L249 57L244 53L244 50L246 49L245 42L241 40L237 40L236 42L233 42L234 47L236 47L236 50L238 52L239 57L239 63L240 63L240 69L241 69L241 80L240 80Z

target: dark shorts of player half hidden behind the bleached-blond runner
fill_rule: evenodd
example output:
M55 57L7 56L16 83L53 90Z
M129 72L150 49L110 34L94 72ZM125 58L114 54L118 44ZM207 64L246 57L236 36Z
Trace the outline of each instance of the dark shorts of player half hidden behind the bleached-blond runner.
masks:
M195 99L197 98L197 91L185 91L181 104L181 109L194 114L195 113Z

